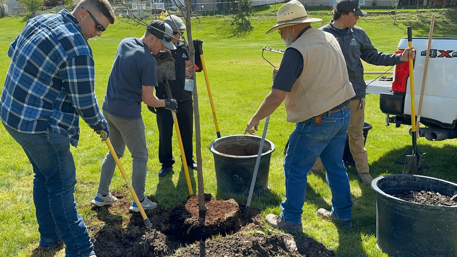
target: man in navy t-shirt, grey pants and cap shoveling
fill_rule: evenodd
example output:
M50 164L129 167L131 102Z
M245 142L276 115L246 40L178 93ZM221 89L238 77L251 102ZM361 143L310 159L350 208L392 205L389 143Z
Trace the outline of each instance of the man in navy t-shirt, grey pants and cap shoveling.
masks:
M121 41L102 105L117 157L123 156L125 146L132 154L132 186L143 209L154 209L157 203L144 197L148 149L141 117L141 102L152 107L176 110L175 99L160 100L154 95L154 86L157 86L157 62L153 54L165 48L176 49L171 43L172 34L170 26L164 21L151 21L143 37L128 37ZM116 162L108 151L101 164L100 183L91 204L103 206L117 202L117 198L109 191L115 168ZM135 202L129 210L139 211Z

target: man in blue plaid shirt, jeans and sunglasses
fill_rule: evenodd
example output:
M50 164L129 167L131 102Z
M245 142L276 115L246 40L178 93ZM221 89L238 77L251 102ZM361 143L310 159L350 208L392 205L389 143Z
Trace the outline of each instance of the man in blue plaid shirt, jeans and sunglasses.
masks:
M84 220L76 211L79 118L95 131L109 130L94 92L94 59L87 42L114 23L107 0L81 0L70 13L27 21L11 43L10 68L1 95L5 129L25 151L34 172L40 241L37 250L65 243L66 257L95 257Z

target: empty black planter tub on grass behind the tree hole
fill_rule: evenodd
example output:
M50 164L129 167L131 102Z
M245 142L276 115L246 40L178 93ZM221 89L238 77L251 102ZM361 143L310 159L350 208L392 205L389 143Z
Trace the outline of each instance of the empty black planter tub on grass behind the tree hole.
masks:
M255 162L259 153L261 137L233 135L211 142L218 189L229 194L248 195L254 175ZM265 139L259 170L254 184L254 193L261 195L268 189L271 153L275 145Z

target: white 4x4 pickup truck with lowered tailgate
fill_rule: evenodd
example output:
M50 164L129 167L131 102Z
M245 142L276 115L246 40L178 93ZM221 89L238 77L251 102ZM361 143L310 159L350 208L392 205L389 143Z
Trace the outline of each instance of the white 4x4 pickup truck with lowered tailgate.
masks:
M419 107L428 38L413 37L414 102ZM408 48L408 38L400 40L397 53ZM378 94L379 107L386 116L386 126L411 125L409 64L396 65L393 81L367 80L367 94ZM422 103L419 136L430 141L457 138L457 38L433 38Z

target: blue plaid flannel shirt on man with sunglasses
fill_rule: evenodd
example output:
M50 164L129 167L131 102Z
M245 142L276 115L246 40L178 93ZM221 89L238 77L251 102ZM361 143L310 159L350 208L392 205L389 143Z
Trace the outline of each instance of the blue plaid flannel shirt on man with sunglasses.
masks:
M78 145L79 117L95 130L107 123L94 92L92 50L67 10L29 21L8 50L1 95L3 123L22 133L52 131Z

